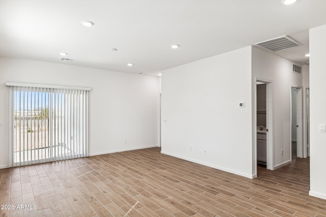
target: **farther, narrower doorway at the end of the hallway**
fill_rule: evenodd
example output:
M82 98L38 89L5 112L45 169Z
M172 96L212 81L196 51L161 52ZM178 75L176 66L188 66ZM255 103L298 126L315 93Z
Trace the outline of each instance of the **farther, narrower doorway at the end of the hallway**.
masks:
M291 86L291 160L304 157L302 87Z

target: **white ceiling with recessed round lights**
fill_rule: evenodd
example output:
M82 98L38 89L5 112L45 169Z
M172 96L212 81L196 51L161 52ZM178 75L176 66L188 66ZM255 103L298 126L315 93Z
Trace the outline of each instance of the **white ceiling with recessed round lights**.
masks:
M325 0L0 0L0 56L157 75L289 35L305 46L275 53L305 64L307 29L326 24L325 9Z

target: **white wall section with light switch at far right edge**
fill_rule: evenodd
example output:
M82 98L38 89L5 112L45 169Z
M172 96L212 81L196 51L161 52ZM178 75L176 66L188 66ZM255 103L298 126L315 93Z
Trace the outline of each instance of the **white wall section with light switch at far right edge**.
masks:
M326 25L309 30L310 52L310 192L326 199L326 133L319 124L326 123Z

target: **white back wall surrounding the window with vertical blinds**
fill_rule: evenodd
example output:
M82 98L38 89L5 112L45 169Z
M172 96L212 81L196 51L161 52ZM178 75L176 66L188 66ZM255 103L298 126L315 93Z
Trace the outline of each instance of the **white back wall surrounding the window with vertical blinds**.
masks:
M91 87L90 155L159 145L159 86L153 76L0 58L0 167L7 166L6 81ZM127 143L123 143L127 139Z

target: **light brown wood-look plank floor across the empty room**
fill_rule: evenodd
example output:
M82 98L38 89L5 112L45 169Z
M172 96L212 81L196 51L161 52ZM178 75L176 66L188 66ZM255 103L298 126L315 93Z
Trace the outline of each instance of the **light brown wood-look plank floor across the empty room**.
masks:
M0 216L326 216L326 200L308 196L309 159L259 167L258 175L233 175L160 148L2 169L0 204L37 209Z

